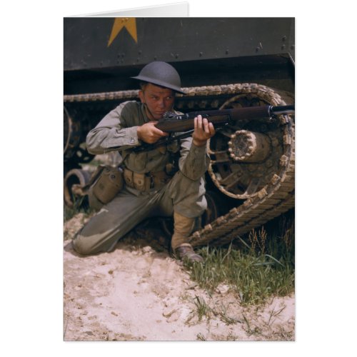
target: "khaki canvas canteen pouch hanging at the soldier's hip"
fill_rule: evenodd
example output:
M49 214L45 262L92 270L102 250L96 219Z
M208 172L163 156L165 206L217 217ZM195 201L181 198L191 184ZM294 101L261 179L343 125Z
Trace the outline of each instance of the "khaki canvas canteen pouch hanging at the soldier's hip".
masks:
M124 178L121 168L104 166L99 178L92 186L92 192L101 203L109 203L123 188Z

